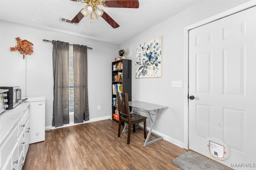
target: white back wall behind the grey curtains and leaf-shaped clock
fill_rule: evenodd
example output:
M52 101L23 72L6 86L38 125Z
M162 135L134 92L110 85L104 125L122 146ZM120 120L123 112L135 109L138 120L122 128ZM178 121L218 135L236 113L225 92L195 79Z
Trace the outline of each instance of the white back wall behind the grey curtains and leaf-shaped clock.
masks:
M33 43L34 52L22 59L16 37ZM74 35L26 27L0 21L0 86L20 86L22 96L46 97L46 127L52 125L53 71L52 44L42 39L59 40L87 45L88 49L88 100L90 119L107 119L112 112L111 62L118 56L118 46ZM109 86L108 86L109 84ZM100 105L100 110L97 106Z

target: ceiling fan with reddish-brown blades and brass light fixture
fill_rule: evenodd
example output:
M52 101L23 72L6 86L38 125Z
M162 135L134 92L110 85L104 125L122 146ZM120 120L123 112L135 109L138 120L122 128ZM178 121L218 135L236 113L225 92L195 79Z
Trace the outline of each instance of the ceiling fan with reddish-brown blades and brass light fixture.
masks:
M114 21L104 10L98 8L99 5L110 8L139 8L138 0L72 0L76 2L86 3L85 8L80 10L78 14L71 20L73 23L79 23L82 18L90 14L91 20L96 20L102 17L113 28L119 27L118 23Z

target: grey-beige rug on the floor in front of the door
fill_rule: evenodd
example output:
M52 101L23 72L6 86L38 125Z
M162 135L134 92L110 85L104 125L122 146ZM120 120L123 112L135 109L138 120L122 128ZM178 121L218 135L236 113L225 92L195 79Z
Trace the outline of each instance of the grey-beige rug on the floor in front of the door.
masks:
M182 154L172 162L182 170L232 170L192 151Z

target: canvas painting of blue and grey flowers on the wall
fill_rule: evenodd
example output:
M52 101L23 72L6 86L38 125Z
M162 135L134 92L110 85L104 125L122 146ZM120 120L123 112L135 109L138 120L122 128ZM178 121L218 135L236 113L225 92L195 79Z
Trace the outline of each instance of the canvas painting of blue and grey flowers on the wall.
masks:
M136 78L162 76L162 36L136 47Z

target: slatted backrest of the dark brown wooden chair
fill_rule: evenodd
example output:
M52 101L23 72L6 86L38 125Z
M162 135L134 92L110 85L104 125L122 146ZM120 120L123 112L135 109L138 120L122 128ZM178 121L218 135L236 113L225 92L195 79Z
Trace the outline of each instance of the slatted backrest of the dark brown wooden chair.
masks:
M130 107L127 93L117 93L119 121L129 122L131 120Z

